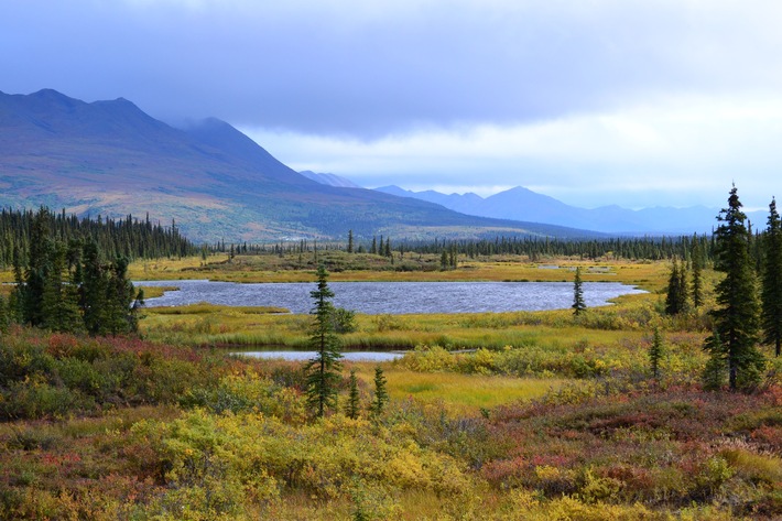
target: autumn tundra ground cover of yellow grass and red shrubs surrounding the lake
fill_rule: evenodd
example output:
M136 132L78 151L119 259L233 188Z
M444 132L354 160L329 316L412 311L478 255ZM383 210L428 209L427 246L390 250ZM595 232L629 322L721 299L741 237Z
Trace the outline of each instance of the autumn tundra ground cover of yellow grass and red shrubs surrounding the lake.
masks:
M739 237L749 254L741 270L760 267L773 280L773 241ZM326 301L309 315L200 304L143 308L139 334L102 336L18 324L12 286L2 286L0 518L779 519L776 337L765 321L754 350L738 345L730 390L719 240L405 245L387 236L369 253L354 237L351 252L209 246L195 257L135 256L128 267L131 279L172 286L180 278L307 281L326 301L326 270L335 281L573 282L580 268L584 281L649 292L577 315L339 318ZM312 365L220 349L321 338L329 352L409 352L333 366L321 414Z

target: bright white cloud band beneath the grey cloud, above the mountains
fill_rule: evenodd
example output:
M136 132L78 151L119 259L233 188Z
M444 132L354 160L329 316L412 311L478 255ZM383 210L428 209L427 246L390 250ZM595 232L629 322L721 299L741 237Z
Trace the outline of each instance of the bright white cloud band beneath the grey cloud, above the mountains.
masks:
M422 128L373 141L242 130L296 170L365 186L488 195L522 185L582 206L631 207L718 206L734 180L748 202L762 206L782 188L782 100L775 97L682 96L620 111Z

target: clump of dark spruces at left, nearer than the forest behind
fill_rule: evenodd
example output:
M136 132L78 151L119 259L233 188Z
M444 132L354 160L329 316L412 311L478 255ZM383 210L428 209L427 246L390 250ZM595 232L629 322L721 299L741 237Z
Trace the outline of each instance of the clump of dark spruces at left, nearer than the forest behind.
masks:
M106 232L100 226L64 215L58 219L46 208L34 214L4 215L19 225L7 230L23 229L24 234L14 235L21 239L14 242L11 258L17 284L8 300L0 297L0 326L17 322L90 335L121 335L138 329L143 293L137 293L128 280L129 260L122 256L109 260L97 240L113 245L116 252L117 240L128 238L123 234L112 236L113 230L126 229L122 225L102 224L110 230ZM80 235L82 230L88 232ZM90 230L98 230L98 237ZM176 237L176 232L171 232L171 237ZM26 252L21 242L26 242Z

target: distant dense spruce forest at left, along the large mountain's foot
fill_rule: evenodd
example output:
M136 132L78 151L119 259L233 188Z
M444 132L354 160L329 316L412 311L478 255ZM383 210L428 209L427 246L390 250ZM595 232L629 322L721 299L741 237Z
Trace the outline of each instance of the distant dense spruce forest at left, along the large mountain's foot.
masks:
M21 256L21 262L29 258L35 216L41 210L0 211L0 268L13 264L13 254ZM193 242L180 235L175 222L164 227L152 224L149 215L139 220L128 215L123 219L109 219L98 216L78 218L46 211L45 219L48 236L63 243L85 242L91 239L106 259L126 258L158 259L164 257L185 257L197 254L200 250Z

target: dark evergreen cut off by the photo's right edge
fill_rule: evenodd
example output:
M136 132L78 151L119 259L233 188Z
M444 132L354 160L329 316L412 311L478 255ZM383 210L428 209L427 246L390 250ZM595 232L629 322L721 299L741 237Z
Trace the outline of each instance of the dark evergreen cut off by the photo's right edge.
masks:
M782 346L782 226L776 213L776 200L773 198L769 205L763 261L763 341L774 346L774 355L779 357Z

